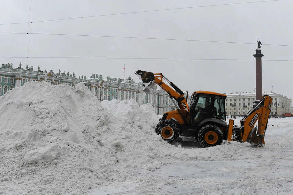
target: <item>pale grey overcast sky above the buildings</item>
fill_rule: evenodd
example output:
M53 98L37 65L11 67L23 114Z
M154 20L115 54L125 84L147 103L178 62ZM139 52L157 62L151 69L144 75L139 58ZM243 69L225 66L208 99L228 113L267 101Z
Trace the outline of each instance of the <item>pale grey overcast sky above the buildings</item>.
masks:
M259 0L1 0L0 24L36 22L158 9L173 9ZM264 0L262 0L264 1ZM30 13L31 5L31 13ZM0 64L21 62L37 70L59 69L76 76L92 73L140 80L134 71L163 73L180 89L221 93L248 92L255 88L255 49L262 44L293 45L292 0L142 12L29 24L0 25L0 33L82 34L151 37L203 41L151 40L115 37L0 34ZM29 19L30 17L30 19ZM29 48L29 54L28 54ZM262 60L293 60L293 47L262 45ZM3 57L106 57L172 59L52 59ZM2 59L1 59L2 57ZM293 62L262 61L262 89L293 98Z

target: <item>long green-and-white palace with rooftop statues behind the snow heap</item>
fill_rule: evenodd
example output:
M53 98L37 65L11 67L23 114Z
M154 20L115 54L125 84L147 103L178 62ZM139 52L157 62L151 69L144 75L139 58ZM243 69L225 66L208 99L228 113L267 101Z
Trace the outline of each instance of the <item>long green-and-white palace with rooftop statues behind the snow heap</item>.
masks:
M18 68L13 68L13 64L1 65L0 96L14 87L23 86L28 81L49 82L52 85L65 84L71 87L74 87L76 83L84 82L99 101L135 99L140 105L150 103L159 115L175 109L169 95L160 87L155 87L151 93L146 94L142 91L143 83L135 83L130 76L125 81L110 78L110 76L103 79L103 76L98 74L92 74L87 79L86 76L75 78L74 73L65 73L65 71L61 73L60 70L58 73L54 73L53 70L41 71L40 67L38 67L38 71L34 71L33 67L26 66L25 68L21 68L21 63Z

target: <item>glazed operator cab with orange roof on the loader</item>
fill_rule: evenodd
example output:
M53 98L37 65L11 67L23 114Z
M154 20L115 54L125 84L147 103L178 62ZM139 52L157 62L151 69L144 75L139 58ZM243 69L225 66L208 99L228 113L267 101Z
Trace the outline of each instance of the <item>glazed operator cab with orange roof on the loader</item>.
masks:
M200 126L202 122L226 121L225 99L226 94L212 91L195 91L191 96L190 123Z

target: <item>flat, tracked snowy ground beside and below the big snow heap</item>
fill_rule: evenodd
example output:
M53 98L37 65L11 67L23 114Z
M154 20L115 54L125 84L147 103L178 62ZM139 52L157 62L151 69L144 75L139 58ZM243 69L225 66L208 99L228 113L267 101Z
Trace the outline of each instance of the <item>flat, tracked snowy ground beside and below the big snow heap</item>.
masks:
M182 145L183 154L201 158L172 157L175 161L154 172L132 170L139 180L101 187L91 195L293 194L292 123L292 118L270 119L274 126L268 126L262 148L238 142L205 149Z

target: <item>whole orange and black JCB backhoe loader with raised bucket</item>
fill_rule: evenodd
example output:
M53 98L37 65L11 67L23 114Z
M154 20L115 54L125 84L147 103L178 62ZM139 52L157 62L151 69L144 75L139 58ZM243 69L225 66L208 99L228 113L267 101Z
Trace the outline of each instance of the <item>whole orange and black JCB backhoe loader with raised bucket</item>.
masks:
M181 135L194 137L202 147L216 146L222 144L223 140L228 143L231 140L247 141L253 147L265 145L264 136L272 103L270 96L262 96L259 104L241 119L240 126L234 125L234 120L231 119L227 125L226 94L195 91L188 105L186 101L188 92L186 91L184 98L183 91L166 79L162 73L154 74L141 70L135 73L144 83L144 92L149 93L154 88L154 84L157 84L169 94L176 105L177 110L165 112L156 126L156 133L161 134L162 139L168 143L177 141ZM168 84L164 83L163 79ZM256 121L258 121L257 128L254 127Z

